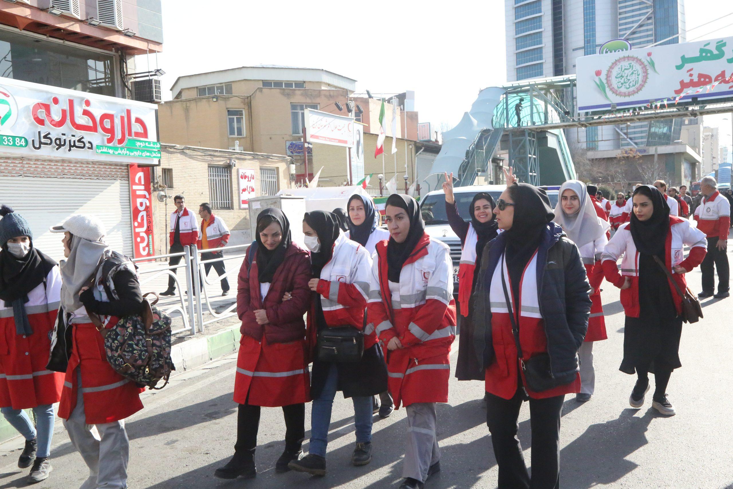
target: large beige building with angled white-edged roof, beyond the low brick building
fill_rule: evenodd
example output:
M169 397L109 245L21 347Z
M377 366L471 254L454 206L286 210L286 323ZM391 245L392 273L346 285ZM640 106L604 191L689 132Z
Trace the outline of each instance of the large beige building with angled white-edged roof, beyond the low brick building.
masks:
M305 176L302 145L304 109L346 116L349 115L347 102L350 101L354 106L352 115L357 122L364 123L364 139L369 139L367 133L379 133L381 100L354 97L355 89L355 80L326 70L271 65L181 76L172 87L173 100L163 103L158 111L161 142L289 155L295 162L296 180L301 181ZM411 109L413 105L408 103L411 99L406 100L405 97L405 94L394 96L398 102L396 109L391 103L386 103L385 120L387 134L392 136L392 111L397 111L395 136L408 141L409 152L410 144L414 147L417 139L418 114L403 110L405 107ZM385 146L391 147L391 139L388 139ZM398 145L402 151L398 161L402 161L404 169L405 144L401 146ZM339 161L341 155L343 162ZM366 146L364 155L368 160ZM319 161L320 158L325 159ZM328 174L324 169L322 179L341 185L343 179L336 181L338 177L347 175L345 158L345 147L314 144L309 149L309 178L320 166L326 166ZM336 163L343 168L332 170L331 166L336 166ZM372 166L367 162L365 166L365 172L369 174ZM381 170L381 160L379 166Z

